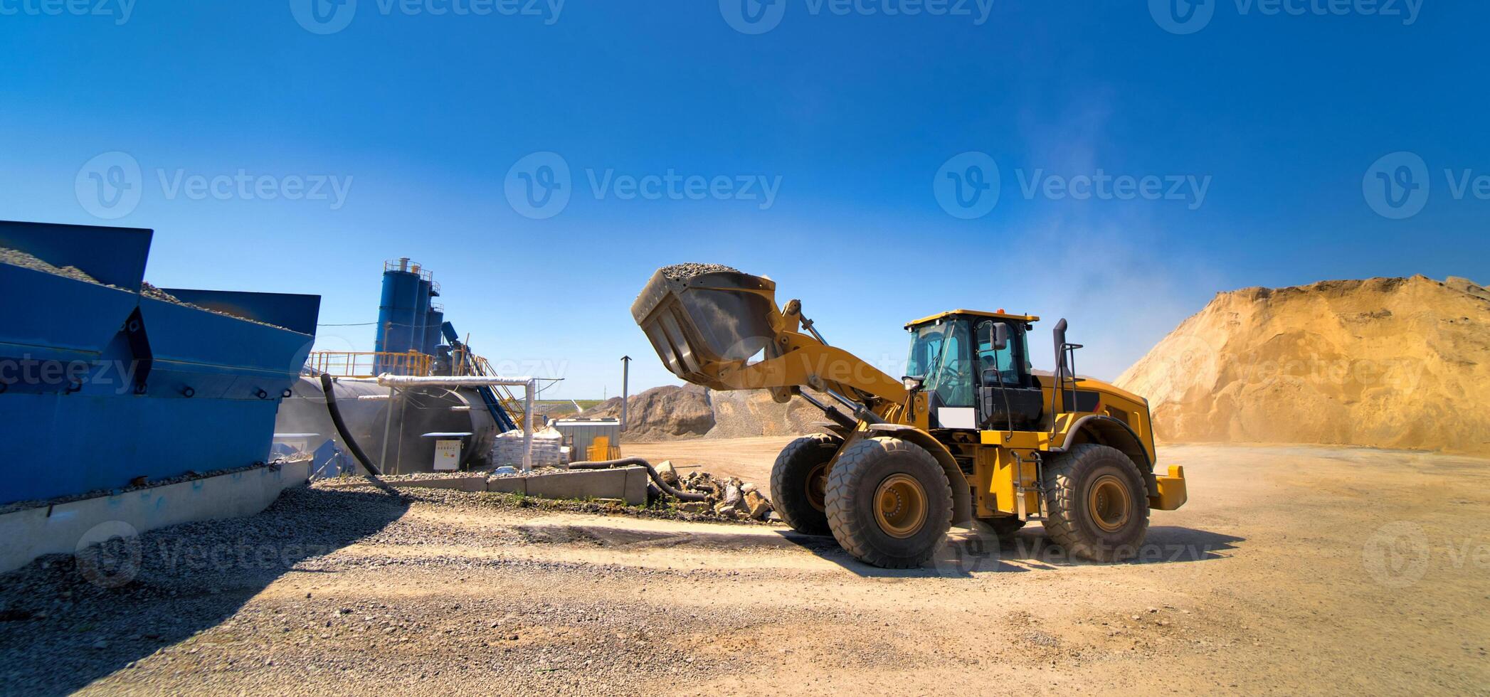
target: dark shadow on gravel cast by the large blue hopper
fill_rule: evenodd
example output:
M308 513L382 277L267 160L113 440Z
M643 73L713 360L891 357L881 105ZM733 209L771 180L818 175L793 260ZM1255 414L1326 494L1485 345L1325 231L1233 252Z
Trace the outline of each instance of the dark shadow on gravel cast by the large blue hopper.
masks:
M285 491L250 518L186 523L0 575L0 694L69 694L232 617L295 564L408 509L380 491Z

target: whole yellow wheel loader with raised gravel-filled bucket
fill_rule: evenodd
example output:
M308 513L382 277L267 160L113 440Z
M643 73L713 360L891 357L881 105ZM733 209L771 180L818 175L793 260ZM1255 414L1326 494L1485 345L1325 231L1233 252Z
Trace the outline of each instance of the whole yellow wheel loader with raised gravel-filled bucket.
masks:
M1147 402L1077 377L1065 320L1044 375L1030 363L1039 317L918 319L897 380L828 346L800 301L778 307L775 281L727 267L659 270L632 314L682 380L822 410L824 432L776 459L772 497L793 529L861 561L915 567L954 524L1007 536L1034 520L1067 553L1115 561L1138 553L1150 509L1186 500L1182 468L1155 474Z

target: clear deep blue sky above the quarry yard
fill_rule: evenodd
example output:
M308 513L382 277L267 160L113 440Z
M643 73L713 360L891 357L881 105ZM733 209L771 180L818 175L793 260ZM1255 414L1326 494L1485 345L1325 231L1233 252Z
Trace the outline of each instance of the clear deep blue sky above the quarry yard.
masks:
M626 353L670 383L629 307L679 261L776 279L888 369L904 320L1003 307L1068 317L1104 377L1219 290L1490 281L1480 1L311 1L0 0L0 217L152 228L153 283L328 325L411 256L565 398Z

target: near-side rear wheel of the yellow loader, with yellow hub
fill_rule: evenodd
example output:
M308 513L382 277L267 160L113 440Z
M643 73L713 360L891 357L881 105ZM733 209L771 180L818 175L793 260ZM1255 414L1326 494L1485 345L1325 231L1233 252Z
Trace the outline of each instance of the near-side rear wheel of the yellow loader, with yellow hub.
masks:
M1125 511L1115 500L1125 494ZM1082 444L1044 466L1044 532L1067 554L1122 561L1149 533L1149 493L1138 466L1120 450Z

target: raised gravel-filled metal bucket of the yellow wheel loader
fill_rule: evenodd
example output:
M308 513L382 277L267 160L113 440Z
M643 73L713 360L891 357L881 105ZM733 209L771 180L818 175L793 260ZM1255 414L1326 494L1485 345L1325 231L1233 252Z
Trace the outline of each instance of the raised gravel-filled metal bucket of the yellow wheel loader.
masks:
M632 317L673 375L727 390L720 375L772 346L781 310L770 279L714 268L724 267L659 270L632 304Z

